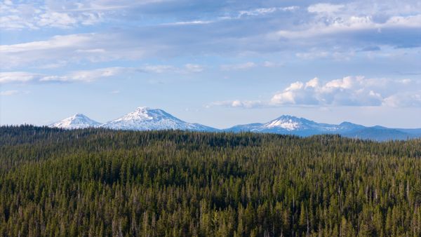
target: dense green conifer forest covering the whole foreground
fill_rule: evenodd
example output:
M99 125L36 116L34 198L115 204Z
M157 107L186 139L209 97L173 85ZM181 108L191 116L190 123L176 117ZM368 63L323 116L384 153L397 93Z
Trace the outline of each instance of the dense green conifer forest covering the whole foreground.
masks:
M421 236L421 140L3 126L0 236Z

